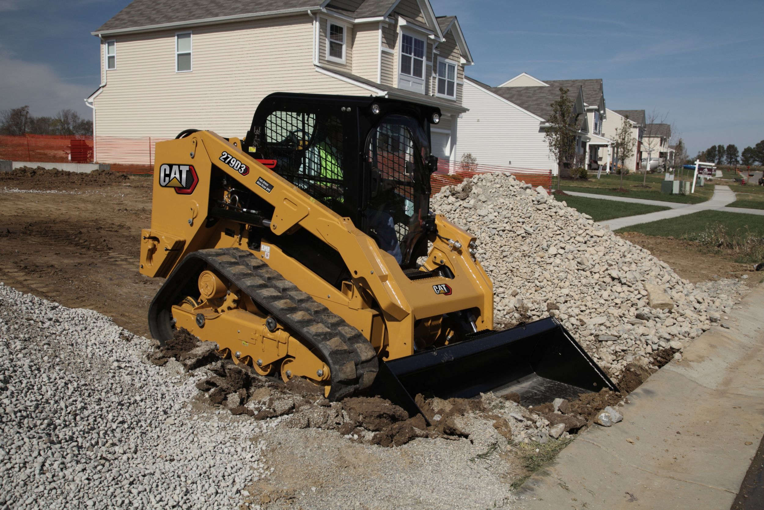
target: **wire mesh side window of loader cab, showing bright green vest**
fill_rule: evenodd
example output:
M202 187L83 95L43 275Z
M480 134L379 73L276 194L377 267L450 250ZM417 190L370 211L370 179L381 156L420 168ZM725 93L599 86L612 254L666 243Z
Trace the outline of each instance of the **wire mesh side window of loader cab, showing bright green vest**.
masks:
M274 171L330 207L345 197L342 124L335 116L273 112L265 119L264 151Z

